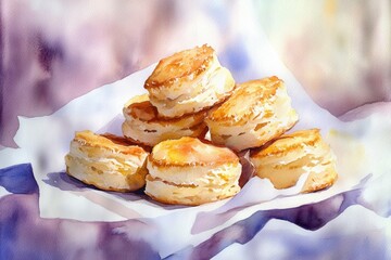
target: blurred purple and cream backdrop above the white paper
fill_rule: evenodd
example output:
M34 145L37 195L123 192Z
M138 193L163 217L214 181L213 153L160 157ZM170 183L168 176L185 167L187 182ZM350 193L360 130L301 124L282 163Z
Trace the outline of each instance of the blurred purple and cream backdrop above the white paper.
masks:
M3 0L0 143L15 146L17 116L51 114L76 96L195 44L210 42L219 50L239 82L258 77L254 68L269 61L254 56L264 42L251 41L263 30L311 96L332 114L390 101L389 1L344 2L328 15L324 4ZM251 49L243 48L248 43Z

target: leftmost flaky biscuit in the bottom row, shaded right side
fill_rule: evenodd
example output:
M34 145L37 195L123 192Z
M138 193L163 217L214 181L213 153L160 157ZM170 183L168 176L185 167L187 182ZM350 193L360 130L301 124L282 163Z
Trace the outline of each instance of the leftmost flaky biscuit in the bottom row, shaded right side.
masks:
M130 192L146 184L148 153L124 138L76 132L65 156L67 174L104 191Z

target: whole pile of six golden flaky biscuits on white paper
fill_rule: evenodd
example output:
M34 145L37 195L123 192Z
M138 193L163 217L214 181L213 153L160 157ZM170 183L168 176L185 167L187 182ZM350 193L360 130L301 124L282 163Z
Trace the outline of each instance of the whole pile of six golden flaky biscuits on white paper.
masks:
M245 150L252 151L255 174L276 188L294 185L304 173L303 192L325 188L337 178L335 157L319 131L285 134L299 117L277 77L236 84L214 50L202 46L161 60L144 88L148 94L123 108L123 134L130 144L76 133L66 156L71 176L102 190L146 185L154 200L181 205L237 194L238 154ZM204 139L207 131L211 141Z

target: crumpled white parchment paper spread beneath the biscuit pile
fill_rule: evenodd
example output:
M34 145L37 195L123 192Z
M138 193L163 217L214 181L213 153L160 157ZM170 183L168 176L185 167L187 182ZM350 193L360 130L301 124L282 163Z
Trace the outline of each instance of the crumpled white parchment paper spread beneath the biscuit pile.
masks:
M42 218L79 221L124 221L140 219L153 226L143 234L162 257L188 245L197 245L215 232L248 218L258 210L282 209L320 202L336 194L368 185L381 174L390 173L391 117L374 113L363 119L340 121L316 105L300 83L276 56L273 69L260 68L260 77L268 70L286 81L292 105L300 115L292 129L320 128L338 158L339 180L330 188L312 194L299 194L303 184L288 190L275 190L269 181L251 179L231 199L198 207L165 206L142 193L108 193L85 186L64 173L64 156L75 131L89 129L121 134L124 120L122 107L136 94L155 65L114 83L103 86L73 100L46 117L20 117L15 142L20 148L0 151L0 167L31 162L39 186L39 209ZM268 74L270 75L270 74ZM250 79L249 79L250 80ZM214 216L224 216L214 221ZM173 229L175 223L175 229ZM131 230L118 230L131 235ZM169 233L169 236L166 234Z

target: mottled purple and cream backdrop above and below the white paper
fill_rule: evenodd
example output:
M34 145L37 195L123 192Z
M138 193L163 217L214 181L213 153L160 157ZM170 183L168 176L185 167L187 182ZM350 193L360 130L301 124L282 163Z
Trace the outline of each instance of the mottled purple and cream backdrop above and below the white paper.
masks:
M3 0L0 145L15 146L17 116L49 115L76 96L195 44L212 44L237 81L254 78L251 64L267 63L252 58L249 46L254 50L258 43L252 41L254 34L269 39L313 100L333 115L366 103L390 102L390 5L387 0ZM147 242L114 232L118 226L151 232L142 220L41 219L39 191L28 164L1 169L0 187L11 193L0 196L0 259L160 258ZM367 204L364 191L288 210L258 211L171 258L210 259L227 247L255 243L257 248L285 252L275 259L390 259L390 230L378 230L370 220L362 223L368 230L353 235L317 233L321 227L348 229L346 222L333 220L357 210L357 205L363 216L389 220L388 198ZM274 233L265 230L270 220L308 233ZM263 244L262 232L273 246ZM241 257L256 256L262 252Z

